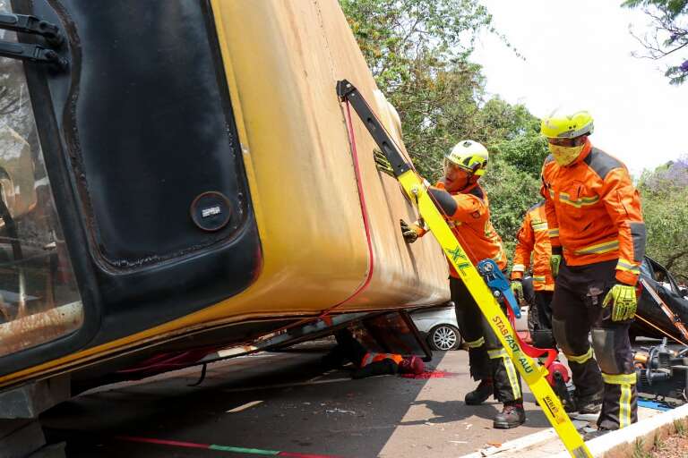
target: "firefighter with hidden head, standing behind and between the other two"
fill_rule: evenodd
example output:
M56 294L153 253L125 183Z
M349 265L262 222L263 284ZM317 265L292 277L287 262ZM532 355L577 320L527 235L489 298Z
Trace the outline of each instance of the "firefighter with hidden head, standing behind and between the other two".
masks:
M535 290L535 303L530 303L529 315L536 317L531 330L533 344L538 348L555 348L552 333L552 296L555 292L555 279L549 268L549 255L552 246L547 233L545 201L542 200L528 209L517 235L516 250L513 254L512 291L519 301L525 301L523 294L523 275L530 267L532 254L532 284Z

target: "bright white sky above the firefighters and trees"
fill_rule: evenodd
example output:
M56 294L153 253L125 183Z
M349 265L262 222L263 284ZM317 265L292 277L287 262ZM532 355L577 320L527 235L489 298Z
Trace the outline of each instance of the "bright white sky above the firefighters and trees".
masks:
M471 60L486 90L542 117L557 107L588 110L593 144L638 176L643 168L688 155L688 83L670 86L667 63L632 57L632 38L649 30L622 0L482 0L493 25L525 57L484 32Z

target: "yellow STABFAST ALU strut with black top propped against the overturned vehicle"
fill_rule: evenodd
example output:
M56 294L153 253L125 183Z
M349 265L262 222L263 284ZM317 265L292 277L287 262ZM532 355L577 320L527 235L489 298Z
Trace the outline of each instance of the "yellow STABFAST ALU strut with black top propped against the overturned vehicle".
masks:
M482 276L478 274L477 268L470 261L466 251L447 225L444 216L435 206L423 179L401 155L399 148L384 130L382 123L367 105L358 89L348 81L342 80L337 83L337 95L342 102L348 102L354 107L366 125L366 129L390 161L394 176L409 195L409 199L416 203L419 215L425 219L426 225L442 246L447 259L466 284L469 293L495 331L495 335L502 342L504 350L509 354L516 368L519 369L520 375L530 387L530 391L538 399L547 420L555 428L563 445L575 458L592 457L581 435L578 434L571 419L563 410L561 401L547 383L545 378L547 370L521 351L515 331L495 300L495 296L483 281Z

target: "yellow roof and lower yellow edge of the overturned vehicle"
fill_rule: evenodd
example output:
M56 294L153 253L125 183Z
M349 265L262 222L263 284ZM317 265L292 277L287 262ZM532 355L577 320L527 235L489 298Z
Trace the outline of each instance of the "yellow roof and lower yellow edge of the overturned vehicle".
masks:
M254 284L183 318L2 376L0 386L211 327L317 317L333 306L395 310L449 300L441 249L431 238L404 243L399 220L411 220L413 207L398 182L378 172L374 141L358 126L366 242L350 139L331 88L344 74L356 75L398 142L400 129L337 1L247 8L242 0L211 0L211 9L262 245Z

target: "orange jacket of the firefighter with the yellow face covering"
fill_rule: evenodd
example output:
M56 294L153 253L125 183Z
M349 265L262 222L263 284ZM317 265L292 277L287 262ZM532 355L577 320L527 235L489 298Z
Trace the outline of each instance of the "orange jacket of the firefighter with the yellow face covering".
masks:
M618 259L616 279L638 281L645 254L641 199L626 166L589 140L571 165L552 156L542 167L547 225L552 251L569 266Z

